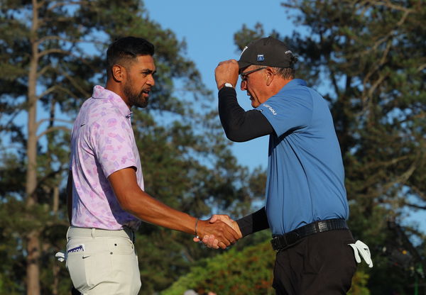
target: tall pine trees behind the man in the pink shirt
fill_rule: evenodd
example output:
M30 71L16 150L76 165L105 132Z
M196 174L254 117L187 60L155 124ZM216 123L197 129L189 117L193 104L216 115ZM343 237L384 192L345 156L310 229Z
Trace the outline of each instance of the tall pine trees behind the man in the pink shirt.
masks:
M200 217L212 206L249 209L254 193L245 183L256 175L224 142L185 42L152 21L142 1L3 1L0 8L1 293L69 294L69 275L53 255L65 247L68 226L70 127L92 87L104 84L107 45L120 36L146 38L156 48L157 87L132 118L148 193ZM217 254L146 223L137 236L142 294Z

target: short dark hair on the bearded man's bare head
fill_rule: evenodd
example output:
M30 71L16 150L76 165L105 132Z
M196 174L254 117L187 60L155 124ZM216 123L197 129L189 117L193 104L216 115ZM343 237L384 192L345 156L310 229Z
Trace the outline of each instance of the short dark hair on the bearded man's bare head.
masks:
M108 72L117 64L126 67L139 55L154 55L154 45L148 40L132 36L114 40L107 50Z

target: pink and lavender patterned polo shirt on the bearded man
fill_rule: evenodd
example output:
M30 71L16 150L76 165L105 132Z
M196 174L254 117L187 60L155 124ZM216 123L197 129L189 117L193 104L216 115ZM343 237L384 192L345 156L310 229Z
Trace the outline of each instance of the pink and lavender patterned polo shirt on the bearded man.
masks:
M120 96L99 85L80 108L71 136L72 226L137 229L141 221L124 211L107 177L136 167L143 189L141 159L130 121L131 111Z

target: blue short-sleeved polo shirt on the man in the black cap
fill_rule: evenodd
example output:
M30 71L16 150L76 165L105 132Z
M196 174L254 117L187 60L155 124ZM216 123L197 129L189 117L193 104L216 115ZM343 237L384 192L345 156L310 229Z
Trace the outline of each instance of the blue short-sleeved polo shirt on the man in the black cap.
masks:
M269 138L266 214L273 235L349 217L342 152L327 101L293 79L264 104Z

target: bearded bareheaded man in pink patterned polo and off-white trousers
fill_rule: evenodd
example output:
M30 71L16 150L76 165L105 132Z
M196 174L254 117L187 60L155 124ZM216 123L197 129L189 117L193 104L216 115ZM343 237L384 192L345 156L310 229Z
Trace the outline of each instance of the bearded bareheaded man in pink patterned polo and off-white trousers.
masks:
M131 128L131 107L146 107L154 47L120 38L107 51L107 85L94 87L72 129L67 204L67 269L82 294L138 294L141 279L133 247L141 220L224 245L238 235L226 223L209 223L177 211L143 191L143 174Z

